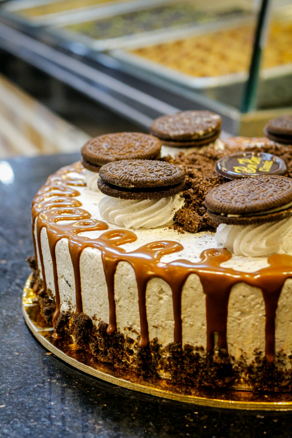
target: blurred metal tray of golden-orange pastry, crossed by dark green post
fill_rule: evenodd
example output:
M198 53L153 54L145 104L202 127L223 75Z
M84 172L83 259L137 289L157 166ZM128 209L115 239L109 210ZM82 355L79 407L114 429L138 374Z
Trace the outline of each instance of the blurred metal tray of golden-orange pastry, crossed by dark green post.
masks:
M136 67L136 72L140 69L149 71L238 108L253 50L256 23L251 24L250 18L195 27L188 30L183 39L172 37L170 41L151 45L147 41L143 44L134 42L127 49L114 50L112 55L124 64ZM273 108L291 102L289 86L285 87L284 93L271 93L271 88L288 85L287 81L292 77L292 54L288 48L292 42L291 32L292 21L271 22L263 56L263 89L258 108Z

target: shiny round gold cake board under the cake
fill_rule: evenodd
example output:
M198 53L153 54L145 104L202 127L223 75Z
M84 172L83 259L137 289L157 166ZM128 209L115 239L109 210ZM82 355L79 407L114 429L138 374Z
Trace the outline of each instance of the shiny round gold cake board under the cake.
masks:
M135 374L98 362L90 353L78 350L73 341L53 338L53 328L46 324L40 314L38 299L30 285L31 276L28 277L22 294L22 312L28 328L47 350L84 373L134 391L200 406L242 410L292 410L291 393L253 394L250 391L236 390L215 393L199 388L183 389L162 379L149 382Z

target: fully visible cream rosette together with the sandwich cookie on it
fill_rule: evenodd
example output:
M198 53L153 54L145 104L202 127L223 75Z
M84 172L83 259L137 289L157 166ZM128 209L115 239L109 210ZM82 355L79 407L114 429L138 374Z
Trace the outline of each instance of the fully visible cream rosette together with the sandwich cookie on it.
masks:
M157 160L122 160L102 166L98 187L105 196L99 214L124 228L172 225L184 204L185 172Z

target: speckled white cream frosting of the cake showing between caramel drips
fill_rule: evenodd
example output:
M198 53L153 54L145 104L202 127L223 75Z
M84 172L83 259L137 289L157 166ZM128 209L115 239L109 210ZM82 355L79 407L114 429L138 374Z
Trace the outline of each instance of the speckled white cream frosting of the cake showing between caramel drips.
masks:
M79 174L68 176L80 179ZM80 195L77 201L82 203L82 208L91 213L91 217L101 219L97 200L102 198L101 193L94 193L86 187L78 187ZM56 195L57 197L57 195ZM52 200L52 198L48 198ZM278 225L277 225L278 226ZM109 230L116 226L109 223ZM103 230L84 232L84 237L99 237ZM123 244L125 251L133 251L142 245L157 240L175 240L182 244L182 251L165 254L161 263L175 260L200 260L202 251L216 247L214 233L201 232L196 234L178 234L175 230L158 227L150 232L142 228L135 231L137 240ZM35 223L36 238L36 223ZM46 272L46 283L55 295L52 259L45 227L41 233L41 250ZM40 266L39 250L37 258ZM56 264L58 283L60 288L61 311L75 311L75 286L74 270L68 249L68 239L61 239L56 245ZM232 255L232 258L222 266L236 268L243 272L254 272L267 267L267 258L252 258ZM106 278L102 265L101 252L95 248L85 248L80 258L82 304L84 313L93 318L93 323L109 321L109 300ZM42 278L42 272L40 272ZM278 303L276 315L276 351L283 349L291 353L292 325L287 324L292 309L292 280L285 282ZM118 330L135 339L140 329L139 309L137 300L137 282L133 268L126 261L118 264L115 274L115 301ZM159 343L166 346L173 342L173 302L172 292L167 283L160 278L149 280L146 293L147 318L149 337L158 337ZM182 292L182 324L183 345L206 345L206 317L205 296L201 282L196 274L191 274L183 286ZM97 318L96 318L97 316ZM162 324L163 321L163 324ZM241 348L249 360L253 359L253 350L257 348L264 351L265 307L262 294L257 288L245 283L238 283L232 287L228 308L228 343L229 353L235 357L242 354Z

